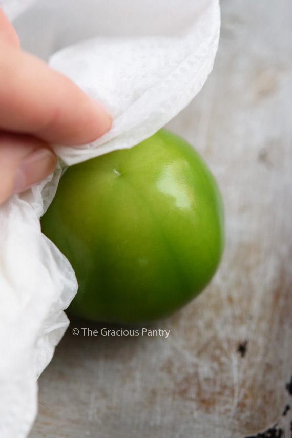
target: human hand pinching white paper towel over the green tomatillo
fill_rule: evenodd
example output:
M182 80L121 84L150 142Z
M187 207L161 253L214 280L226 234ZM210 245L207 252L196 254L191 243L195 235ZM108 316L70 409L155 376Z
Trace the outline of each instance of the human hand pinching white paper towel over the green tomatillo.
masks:
M70 79L20 49L0 8L0 204L54 170L50 143L89 143L111 124Z

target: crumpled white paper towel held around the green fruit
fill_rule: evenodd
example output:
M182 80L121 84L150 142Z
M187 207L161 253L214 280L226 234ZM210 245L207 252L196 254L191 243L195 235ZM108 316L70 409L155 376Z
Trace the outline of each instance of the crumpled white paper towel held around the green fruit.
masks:
M31 3L0 0L10 19ZM212 70L220 10L218 0L39 0L15 25L36 54L46 58L60 49L49 64L113 116L111 131L90 144L54 145L71 165L132 147L187 106ZM29 433L37 378L68 327L63 310L77 291L70 263L39 225L61 172L58 164L46 180L0 207L1 438Z

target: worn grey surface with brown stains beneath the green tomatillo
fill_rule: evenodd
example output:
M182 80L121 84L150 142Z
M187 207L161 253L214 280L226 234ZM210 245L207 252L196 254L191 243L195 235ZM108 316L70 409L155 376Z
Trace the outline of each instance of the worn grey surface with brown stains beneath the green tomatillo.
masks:
M153 328L91 337L72 320L39 379L30 438L292 433L292 8L222 0L214 71L169 128L210 164L226 211L212 284ZM290 391L292 393L292 390Z

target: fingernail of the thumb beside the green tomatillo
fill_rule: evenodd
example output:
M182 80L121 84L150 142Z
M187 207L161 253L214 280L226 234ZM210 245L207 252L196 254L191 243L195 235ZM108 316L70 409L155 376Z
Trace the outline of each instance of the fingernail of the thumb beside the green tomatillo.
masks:
M20 161L15 172L12 195L24 192L55 169L57 157L50 149L38 148Z

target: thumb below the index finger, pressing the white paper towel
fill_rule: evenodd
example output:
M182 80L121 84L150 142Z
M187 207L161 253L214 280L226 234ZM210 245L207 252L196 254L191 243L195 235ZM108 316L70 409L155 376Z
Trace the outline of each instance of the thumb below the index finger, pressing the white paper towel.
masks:
M55 168L49 145L30 135L0 133L0 205L43 180Z

